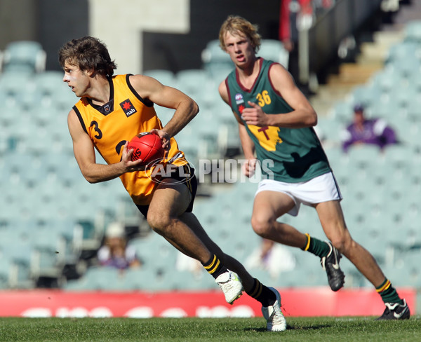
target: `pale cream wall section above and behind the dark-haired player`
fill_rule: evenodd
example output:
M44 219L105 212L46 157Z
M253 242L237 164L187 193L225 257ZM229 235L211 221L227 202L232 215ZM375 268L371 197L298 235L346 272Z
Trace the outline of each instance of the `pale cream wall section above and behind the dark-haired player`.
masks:
M90 0L89 32L107 43L119 74L142 71L142 32L189 32L189 0Z

